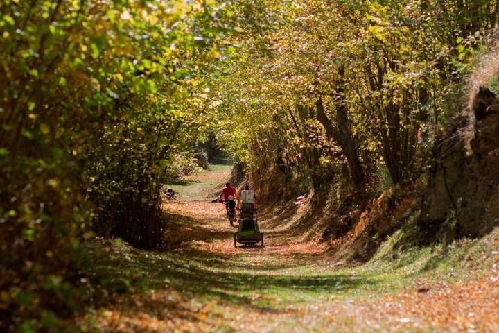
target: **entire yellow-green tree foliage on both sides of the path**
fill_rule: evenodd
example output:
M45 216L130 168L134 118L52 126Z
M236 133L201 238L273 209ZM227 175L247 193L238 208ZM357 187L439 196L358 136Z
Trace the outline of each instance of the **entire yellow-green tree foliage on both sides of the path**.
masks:
M365 169L417 175L491 4L0 1L2 325L62 326L94 232L159 246L161 191L213 133L260 176L321 187L351 161L320 99Z

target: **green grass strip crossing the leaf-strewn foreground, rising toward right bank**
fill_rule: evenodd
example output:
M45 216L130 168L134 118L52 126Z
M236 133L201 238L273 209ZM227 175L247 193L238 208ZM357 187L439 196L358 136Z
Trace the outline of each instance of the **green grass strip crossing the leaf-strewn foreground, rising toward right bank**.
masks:
M300 256L253 254L252 248L236 256L195 250L175 255L121 244L114 245L110 256L96 247L101 261L94 262L91 270L98 272L103 284L126 280L134 291L162 288L168 280L170 287L204 300L279 309L322 296L356 300L380 296L410 287L417 278L435 282L471 278L498 259L497 254L491 255L491 244L498 235L496 230L480 240L413 248L397 259L375 257L367 264L339 269L330 268L324 258L314 263L313 258ZM271 297L253 300L255 292Z

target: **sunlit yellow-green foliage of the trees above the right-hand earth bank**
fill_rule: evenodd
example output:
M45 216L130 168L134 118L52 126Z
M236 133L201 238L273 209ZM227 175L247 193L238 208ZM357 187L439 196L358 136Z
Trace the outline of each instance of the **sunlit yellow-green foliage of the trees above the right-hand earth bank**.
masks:
M347 109L365 169L384 162L394 183L417 177L422 148L461 109L462 78L491 37L495 3L472 2L281 1L213 94L227 116L220 140L252 169L308 178L333 161L344 171L341 142L315 110L322 99L333 127Z

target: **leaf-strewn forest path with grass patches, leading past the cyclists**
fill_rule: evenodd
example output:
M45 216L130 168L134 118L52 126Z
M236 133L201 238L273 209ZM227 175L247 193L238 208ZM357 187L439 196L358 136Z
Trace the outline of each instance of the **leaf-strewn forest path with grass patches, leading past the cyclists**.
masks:
M215 165L172 185L180 200L164 205L170 250L114 246L128 287L91 315L98 330L499 332L497 270L497 280L447 284L405 268L342 268L265 223L264 248L234 248L223 205L209 203L229 171Z

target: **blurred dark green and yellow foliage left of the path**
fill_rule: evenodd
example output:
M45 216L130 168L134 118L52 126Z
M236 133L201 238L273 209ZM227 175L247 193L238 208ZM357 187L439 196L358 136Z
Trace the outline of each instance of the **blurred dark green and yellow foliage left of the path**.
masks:
M0 2L7 330L58 331L87 297L74 261L91 230L160 244L161 189L213 127L207 68L231 46L229 5Z

